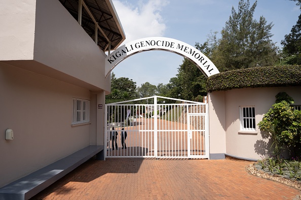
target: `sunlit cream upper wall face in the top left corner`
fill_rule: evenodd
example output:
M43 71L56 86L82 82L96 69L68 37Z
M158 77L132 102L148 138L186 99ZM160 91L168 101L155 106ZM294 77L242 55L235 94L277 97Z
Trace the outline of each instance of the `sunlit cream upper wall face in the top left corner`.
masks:
M0 2L0 61L32 60L35 0Z

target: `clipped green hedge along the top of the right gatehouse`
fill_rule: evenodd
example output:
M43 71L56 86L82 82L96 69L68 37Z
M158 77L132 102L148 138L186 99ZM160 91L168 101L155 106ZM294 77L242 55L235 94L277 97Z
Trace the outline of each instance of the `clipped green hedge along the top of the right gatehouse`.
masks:
M254 67L221 72L207 78L207 92L247 87L301 86L301 65Z

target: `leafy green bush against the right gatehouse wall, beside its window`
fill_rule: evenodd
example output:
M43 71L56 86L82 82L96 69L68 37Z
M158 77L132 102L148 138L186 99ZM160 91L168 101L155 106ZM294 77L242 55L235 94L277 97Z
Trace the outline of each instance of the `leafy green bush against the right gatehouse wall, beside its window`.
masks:
M293 110L290 106L293 99L285 92L278 93L276 98L276 102L279 103L275 103L273 108L264 115L262 121L258 123L258 127L273 140L271 152L279 160L281 149L284 146L291 147L294 155L299 154L301 148L301 111Z

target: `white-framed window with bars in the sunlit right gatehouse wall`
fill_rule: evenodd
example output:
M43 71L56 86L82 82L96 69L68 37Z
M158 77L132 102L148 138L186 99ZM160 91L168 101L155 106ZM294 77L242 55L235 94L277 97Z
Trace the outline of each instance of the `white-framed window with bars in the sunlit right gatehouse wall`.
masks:
M240 106L239 107L240 130L256 131L255 116L256 116L255 106Z

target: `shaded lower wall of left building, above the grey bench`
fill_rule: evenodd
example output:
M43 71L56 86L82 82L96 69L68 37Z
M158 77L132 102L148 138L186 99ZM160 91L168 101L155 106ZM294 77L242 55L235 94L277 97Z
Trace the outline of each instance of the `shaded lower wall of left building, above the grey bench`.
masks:
M90 124L71 127L72 97L89 90L2 63L0 72L0 187L90 144Z

